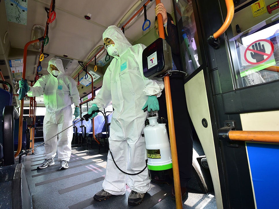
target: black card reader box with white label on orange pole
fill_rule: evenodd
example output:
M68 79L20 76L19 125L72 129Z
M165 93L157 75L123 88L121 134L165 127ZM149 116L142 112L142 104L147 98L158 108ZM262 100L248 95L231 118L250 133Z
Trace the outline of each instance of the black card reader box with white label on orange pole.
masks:
M143 50L143 75L160 78L173 68L171 47L165 39L158 38Z

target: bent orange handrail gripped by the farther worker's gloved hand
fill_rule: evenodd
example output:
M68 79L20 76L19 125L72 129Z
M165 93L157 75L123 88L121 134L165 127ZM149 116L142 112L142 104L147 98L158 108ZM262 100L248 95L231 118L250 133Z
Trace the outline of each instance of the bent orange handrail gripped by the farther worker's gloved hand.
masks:
M22 78L23 80L25 80L25 73L26 73L26 59L27 59L27 48L30 44L33 44L33 43L37 43L37 42L40 42L42 41L43 39L36 39L36 40L33 40L33 41L29 41L27 42L27 44L25 44L24 46L24 50L23 50L23 69L22 69ZM17 151L16 153L14 154L14 157L17 157L18 154L20 153L21 151L21 143L22 143L22 121L23 121L23 102L24 102L24 97L23 99L20 100L20 112L19 112L19 125L18 125L18 147L17 147Z

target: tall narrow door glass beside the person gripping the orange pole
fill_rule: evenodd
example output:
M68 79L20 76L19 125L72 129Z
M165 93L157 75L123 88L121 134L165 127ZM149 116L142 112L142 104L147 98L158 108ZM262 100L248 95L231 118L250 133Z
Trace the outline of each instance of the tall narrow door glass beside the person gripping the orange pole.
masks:
M177 0L174 3L176 25L181 43L181 60L189 76L202 64L192 1Z

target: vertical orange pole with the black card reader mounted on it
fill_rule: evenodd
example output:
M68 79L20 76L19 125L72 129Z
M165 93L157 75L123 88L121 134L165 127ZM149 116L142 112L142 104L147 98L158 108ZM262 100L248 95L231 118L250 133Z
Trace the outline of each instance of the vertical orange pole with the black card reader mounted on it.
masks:
M156 5L158 3L161 3L161 1L156 0ZM157 17L158 17L159 36L160 38L165 39L162 14L158 14ZM173 163L175 203L176 203L176 208L182 209L183 207L182 207L181 187L180 187L179 168L178 168L178 159L177 159L177 147L176 147L176 139L175 139L174 120L173 120L173 105L171 101L171 86L170 86L170 78L168 76L164 77L164 86L165 86L166 106L167 106L167 114L168 114L168 130L170 133L170 143L171 143L171 159Z

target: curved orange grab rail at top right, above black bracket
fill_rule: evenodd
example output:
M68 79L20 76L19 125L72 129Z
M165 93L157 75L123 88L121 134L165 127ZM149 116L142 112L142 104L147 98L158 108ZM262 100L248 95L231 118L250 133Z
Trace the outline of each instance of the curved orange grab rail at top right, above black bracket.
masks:
M228 29L228 27L231 25L231 21L233 20L235 10L233 0L225 0L225 2L227 7L226 19L223 25L220 27L220 29L207 38L208 44L215 49L218 49L220 47L220 42L218 38L226 31L226 29Z

